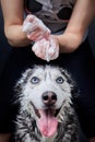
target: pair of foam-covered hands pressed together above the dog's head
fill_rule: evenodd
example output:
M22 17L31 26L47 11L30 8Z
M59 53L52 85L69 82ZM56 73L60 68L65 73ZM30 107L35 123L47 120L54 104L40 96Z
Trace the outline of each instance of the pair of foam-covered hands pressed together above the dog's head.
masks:
M47 61L58 58L58 40L50 35L50 29L38 17L28 14L23 23L23 32L28 39L35 42L32 50L37 57Z

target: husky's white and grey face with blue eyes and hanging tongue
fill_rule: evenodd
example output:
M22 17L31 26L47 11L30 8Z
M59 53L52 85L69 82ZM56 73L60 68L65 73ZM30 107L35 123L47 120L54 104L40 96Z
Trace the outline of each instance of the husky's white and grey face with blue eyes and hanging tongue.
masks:
M35 67L28 69L17 82L21 109L29 110L45 137L57 131L58 115L63 103L70 104L71 85L69 75L56 67Z

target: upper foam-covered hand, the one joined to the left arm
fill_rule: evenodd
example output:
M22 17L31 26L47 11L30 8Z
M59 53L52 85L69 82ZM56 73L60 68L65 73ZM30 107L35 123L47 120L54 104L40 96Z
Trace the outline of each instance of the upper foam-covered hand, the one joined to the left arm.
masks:
M23 32L27 38L33 42L38 42L43 38L48 39L50 29L35 15L28 14L23 23Z

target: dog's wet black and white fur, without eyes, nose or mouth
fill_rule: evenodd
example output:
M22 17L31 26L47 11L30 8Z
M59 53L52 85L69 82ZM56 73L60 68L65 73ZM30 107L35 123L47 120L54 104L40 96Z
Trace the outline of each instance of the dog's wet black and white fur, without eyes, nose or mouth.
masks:
M31 83L34 74L41 80L44 80L43 75L47 75L46 78L49 78L48 74L50 76L54 76L54 83L51 82L50 84L47 81L39 86L37 85L37 90L35 90L37 97L38 94L41 95L44 91L46 92L47 90L50 90L54 91L56 94L58 93L58 97L60 96L61 98L56 106L59 107L61 105L60 111L57 116L59 121L58 130L57 133L51 138L43 137L37 128L37 117L34 110L34 106L37 108L41 107L43 103L39 98L37 98L37 100L34 100L34 97L31 98L34 94L33 88L36 88L36 84ZM55 79L60 75L62 75L64 84L55 85ZM57 92L55 90L56 86ZM43 87L43 91L40 90L40 87ZM50 66L36 66L32 69L27 69L16 83L15 91L19 95L17 102L20 102L21 104L20 111L16 118L16 142L79 142L79 122L72 103L72 99L75 97L76 93L74 92L74 83L67 71L61 68ZM59 92L62 94L60 95ZM37 104L37 106L35 103Z

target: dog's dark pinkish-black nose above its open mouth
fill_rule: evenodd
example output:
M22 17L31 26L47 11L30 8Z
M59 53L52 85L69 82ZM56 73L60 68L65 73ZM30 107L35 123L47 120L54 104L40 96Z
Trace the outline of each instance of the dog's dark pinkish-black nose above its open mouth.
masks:
M43 102L45 105L54 105L57 102L57 95L54 92L45 92L43 94Z

